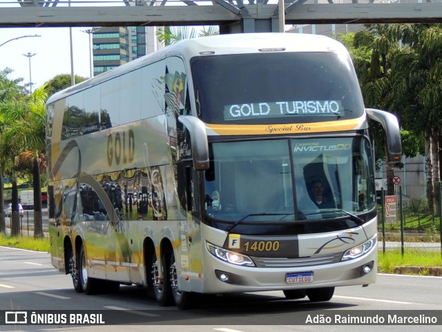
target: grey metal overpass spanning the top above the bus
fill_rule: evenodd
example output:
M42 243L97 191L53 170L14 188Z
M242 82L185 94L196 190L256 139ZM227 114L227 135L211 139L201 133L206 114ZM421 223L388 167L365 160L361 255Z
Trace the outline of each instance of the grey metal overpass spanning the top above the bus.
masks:
M278 32L280 22L437 23L441 13L441 0L0 0L0 28L218 25L221 33Z

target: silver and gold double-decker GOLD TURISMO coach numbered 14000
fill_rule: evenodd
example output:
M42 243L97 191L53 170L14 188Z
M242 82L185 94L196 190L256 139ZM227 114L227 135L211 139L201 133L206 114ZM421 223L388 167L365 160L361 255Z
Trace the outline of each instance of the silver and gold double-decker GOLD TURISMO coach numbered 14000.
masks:
M376 280L374 145L345 47L258 33L180 41L47 101L51 261L77 292L162 306Z

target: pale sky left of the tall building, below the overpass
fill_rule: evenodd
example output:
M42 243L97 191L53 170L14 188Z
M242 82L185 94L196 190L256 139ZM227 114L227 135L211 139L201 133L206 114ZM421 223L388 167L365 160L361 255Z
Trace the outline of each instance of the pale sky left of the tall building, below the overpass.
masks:
M90 77L88 28L72 28L74 73ZM8 41L26 35L26 37ZM70 75L69 28L0 28L0 70L6 67L14 70L8 78L23 78L23 84L30 81L29 58L23 54L34 54L30 58L32 90L59 74Z

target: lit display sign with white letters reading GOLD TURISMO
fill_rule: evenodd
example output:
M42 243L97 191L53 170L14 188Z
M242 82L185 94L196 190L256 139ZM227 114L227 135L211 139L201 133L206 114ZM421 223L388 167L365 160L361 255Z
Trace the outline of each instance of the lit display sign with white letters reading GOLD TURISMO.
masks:
M224 106L224 120L286 116L338 116L344 109L340 100L274 101Z

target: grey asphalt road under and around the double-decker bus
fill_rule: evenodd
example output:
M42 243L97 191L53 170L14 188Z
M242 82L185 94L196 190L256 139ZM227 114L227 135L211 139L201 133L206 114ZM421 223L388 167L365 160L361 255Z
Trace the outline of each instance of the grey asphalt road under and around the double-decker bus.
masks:
M36 253L0 247L0 311L49 310L57 313L88 310L101 313L105 326L4 325L0 331L441 331L442 277L378 275L376 284L368 287L339 287L329 302L311 303L286 300L280 291L242 295L208 296L202 309L180 311L174 306L160 307L137 286L121 286L117 294L84 295L75 293L69 275L60 275L50 264L48 253ZM109 316L111 313L111 316ZM439 325L361 325L305 324L305 320L340 315L350 318L393 313L432 315ZM324 316L321 316L324 315ZM429 316L432 317L432 316ZM110 320L110 321L109 321ZM116 321L115 321L116 320ZM4 322L4 320L3 320ZM133 325L132 325L133 324ZM137 324L137 325L135 325ZM151 326L146 326L150 324Z

